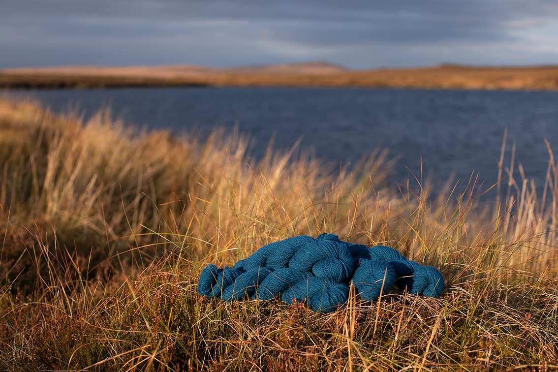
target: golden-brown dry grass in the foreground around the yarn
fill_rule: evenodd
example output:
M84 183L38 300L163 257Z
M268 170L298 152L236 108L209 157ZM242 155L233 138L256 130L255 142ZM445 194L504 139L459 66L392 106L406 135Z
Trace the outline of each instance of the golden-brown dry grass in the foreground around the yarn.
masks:
M553 158L545 195L509 178L480 204L474 181L434 199L413 180L388 189L381 152L348 175L292 152L256 165L246 147L0 102L1 368L558 368ZM209 262L323 231L391 245L448 287L326 315L195 291Z

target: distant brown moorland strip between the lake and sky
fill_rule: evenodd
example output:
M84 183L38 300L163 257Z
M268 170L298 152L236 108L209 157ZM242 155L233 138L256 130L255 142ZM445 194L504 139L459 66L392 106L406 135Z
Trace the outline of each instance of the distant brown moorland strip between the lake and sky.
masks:
M0 88L117 86L362 86L392 88L558 89L558 66L462 66L348 70L326 62L210 68L60 66L0 70Z

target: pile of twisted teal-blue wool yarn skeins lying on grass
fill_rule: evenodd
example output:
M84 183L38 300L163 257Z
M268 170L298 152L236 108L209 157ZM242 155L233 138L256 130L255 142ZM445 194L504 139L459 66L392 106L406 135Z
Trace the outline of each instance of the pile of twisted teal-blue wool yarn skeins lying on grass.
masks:
M198 292L227 301L281 298L329 312L347 301L350 282L365 301L394 286L437 297L445 285L439 270L408 260L393 248L369 248L323 233L264 245L233 267L209 264L200 274Z

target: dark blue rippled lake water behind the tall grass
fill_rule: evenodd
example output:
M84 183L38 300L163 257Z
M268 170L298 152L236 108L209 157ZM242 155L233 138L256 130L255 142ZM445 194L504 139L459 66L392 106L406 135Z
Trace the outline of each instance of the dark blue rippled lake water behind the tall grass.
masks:
M15 92L21 94L22 92ZM270 138L285 149L302 138L334 171L375 148L400 157L393 183L423 175L484 189L497 181L504 131L504 166L512 144L517 163L538 187L545 180L548 139L558 149L558 92L353 88L123 88L27 91L56 112L79 107L85 117L110 106L115 117L148 129L179 133L224 127L249 133L253 157Z

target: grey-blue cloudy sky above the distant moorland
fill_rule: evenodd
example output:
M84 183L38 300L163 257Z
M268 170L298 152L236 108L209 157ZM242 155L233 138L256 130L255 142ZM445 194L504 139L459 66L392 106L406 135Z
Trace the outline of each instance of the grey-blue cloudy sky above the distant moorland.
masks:
M558 64L556 0L0 0L0 68Z

